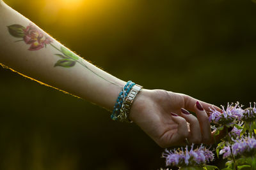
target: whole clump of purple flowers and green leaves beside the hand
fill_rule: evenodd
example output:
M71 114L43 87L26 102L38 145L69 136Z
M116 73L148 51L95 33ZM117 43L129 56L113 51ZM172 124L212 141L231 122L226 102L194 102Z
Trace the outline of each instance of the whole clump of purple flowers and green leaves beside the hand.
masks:
M242 105L227 104L227 108L221 106L221 110L209 108L211 114L209 122L214 135L218 136L221 131L226 132L226 136L220 139L215 148L217 156L223 155L223 159L228 159L224 169L256 169L256 103L246 109ZM223 133L221 133L223 134ZM215 137L214 136L214 137ZM207 165L214 159L214 154L203 147L191 150L188 146L184 149L166 150L163 153L166 159L166 166L178 166L180 170L188 169L218 169L217 166Z

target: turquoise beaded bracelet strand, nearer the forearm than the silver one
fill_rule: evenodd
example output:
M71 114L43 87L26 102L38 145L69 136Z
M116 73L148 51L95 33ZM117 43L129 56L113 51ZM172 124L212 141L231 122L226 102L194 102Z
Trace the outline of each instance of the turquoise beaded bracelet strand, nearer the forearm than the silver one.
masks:
M122 91L119 93L119 95L116 99L114 109L111 114L111 118L113 120L118 120L118 115L120 115L120 109L122 107L122 104L124 103L124 99L127 96L127 94L129 94L130 90L132 89L132 87L134 85L135 85L135 83L133 83L131 80L127 81L127 83L123 87Z

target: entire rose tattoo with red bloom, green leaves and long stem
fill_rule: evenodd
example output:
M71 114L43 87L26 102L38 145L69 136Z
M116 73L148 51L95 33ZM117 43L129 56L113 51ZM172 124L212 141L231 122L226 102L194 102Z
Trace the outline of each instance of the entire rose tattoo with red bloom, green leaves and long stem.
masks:
M61 59L54 64L54 67L73 67L77 62L81 64L81 66L86 67L86 69L88 69L89 71L92 71L93 74L96 74L103 80L106 80L109 83L116 85L115 83L100 76L98 73L86 66L83 60L78 55L68 50L68 48L61 46L59 49L56 46L52 45L53 39L45 34L45 32L42 32L40 29L38 29L35 25L30 23L27 27L23 27L19 24L13 24L8 26L8 31L15 38L22 38L15 42L24 41L27 45L30 45L28 49L30 51L40 50L41 48L46 47L46 45L51 45L53 48L58 50L58 52L60 53L55 53L55 55L61 57Z

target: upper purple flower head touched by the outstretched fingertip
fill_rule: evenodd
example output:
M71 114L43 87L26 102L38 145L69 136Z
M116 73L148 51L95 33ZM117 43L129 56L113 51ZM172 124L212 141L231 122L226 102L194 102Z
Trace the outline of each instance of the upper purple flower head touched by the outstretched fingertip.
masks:
M211 115L209 121L219 125L230 125L234 124L236 120L241 120L244 110L239 106L237 102L235 105L228 104L225 110L224 106L221 106L222 110L218 111L215 108L210 108Z

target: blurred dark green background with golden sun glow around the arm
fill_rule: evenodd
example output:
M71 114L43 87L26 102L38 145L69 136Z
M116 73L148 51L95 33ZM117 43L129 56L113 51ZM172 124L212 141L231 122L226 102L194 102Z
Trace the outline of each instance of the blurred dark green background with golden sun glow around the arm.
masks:
M250 0L5 2L122 80L218 106L256 101ZM0 169L164 167L163 148L135 124L8 69L0 75Z

